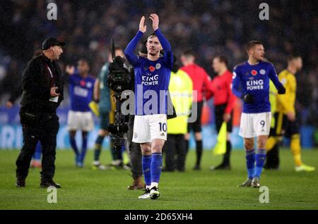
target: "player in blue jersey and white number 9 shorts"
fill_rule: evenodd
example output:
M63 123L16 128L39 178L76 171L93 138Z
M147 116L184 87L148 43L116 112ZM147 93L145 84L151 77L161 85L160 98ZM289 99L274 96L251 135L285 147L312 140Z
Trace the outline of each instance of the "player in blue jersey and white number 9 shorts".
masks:
M273 81L278 94L285 94L285 88L279 82L273 64L264 61L265 51L261 42L249 42L246 51L248 61L235 66L232 78L233 94L244 101L239 135L244 139L248 178L239 186L260 187L259 179L266 160L265 144L271 127L269 79ZM257 152L254 150L255 136Z

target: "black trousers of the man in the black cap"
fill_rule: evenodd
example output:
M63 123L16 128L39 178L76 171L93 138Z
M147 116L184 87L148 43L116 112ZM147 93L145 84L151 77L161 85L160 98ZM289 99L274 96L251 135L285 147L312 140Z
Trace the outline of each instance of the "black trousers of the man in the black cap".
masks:
M26 112L34 115L32 112ZM16 160L16 177L25 179L28 176L31 158L35 152L37 141L42 145L41 179L50 180L55 172L55 154L57 147L57 132L59 117L56 113L41 113L35 118L25 118L25 111L20 111L20 121L23 127L23 147Z

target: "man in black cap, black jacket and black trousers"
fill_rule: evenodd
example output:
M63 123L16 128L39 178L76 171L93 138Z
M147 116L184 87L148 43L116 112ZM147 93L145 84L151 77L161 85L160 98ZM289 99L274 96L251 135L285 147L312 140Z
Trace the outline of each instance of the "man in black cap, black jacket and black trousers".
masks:
M16 187L25 187L25 178L37 141L42 144L40 187L61 187L53 181L59 117L57 107L63 100L63 75L57 60L63 53L56 38L42 43L42 54L28 62L22 76L20 123L23 127L23 147L16 160Z

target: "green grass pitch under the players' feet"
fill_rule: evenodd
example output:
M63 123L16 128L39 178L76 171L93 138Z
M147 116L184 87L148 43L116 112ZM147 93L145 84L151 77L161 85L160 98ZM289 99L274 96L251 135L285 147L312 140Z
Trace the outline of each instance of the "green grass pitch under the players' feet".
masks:
M130 191L129 170L92 170L93 152L88 151L85 168L73 164L73 152L57 151L54 180L57 204L47 202L47 189L41 189L38 169L30 169L27 187L15 187L15 160L19 151L0 150L0 209L318 209L318 175L295 173L289 150L281 150L281 170L265 170L261 185L269 187L269 203L261 204L261 192L236 187L247 177L245 154L232 152L232 170L210 171L220 156L204 151L202 170L194 171L195 154L190 151L185 173L163 173L158 200L138 199L142 191ZM308 165L318 165L318 150L303 150ZM102 151L104 163L110 152Z

